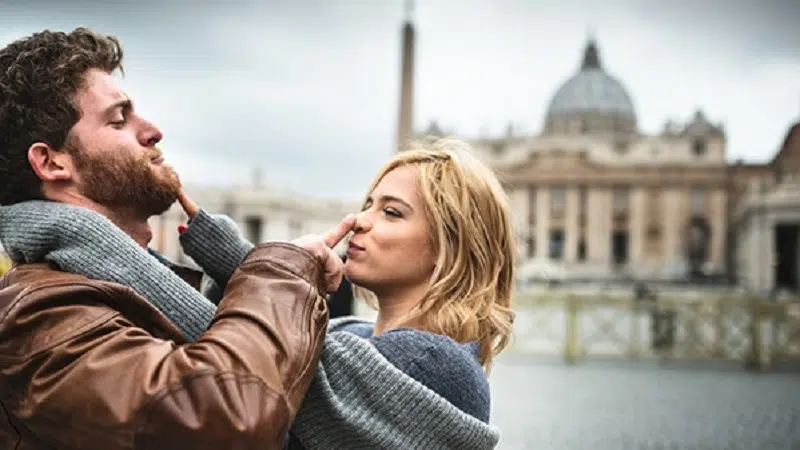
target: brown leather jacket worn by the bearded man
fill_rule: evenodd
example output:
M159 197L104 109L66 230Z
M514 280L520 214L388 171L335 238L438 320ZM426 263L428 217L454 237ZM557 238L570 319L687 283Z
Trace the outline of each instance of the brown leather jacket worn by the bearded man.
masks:
M258 246L194 343L125 286L46 265L0 279L0 449L274 449L319 361L323 268Z

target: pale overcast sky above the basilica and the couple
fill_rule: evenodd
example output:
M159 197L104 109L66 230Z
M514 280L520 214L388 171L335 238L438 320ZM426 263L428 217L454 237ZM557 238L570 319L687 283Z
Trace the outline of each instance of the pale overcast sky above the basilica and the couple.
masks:
M392 154L403 0L0 0L0 45L44 29L120 37L125 90L187 183L358 198ZM547 6L550 5L550 6ZM417 0L415 122L539 133L587 34L640 128L702 108L730 160L772 158L800 119L797 0Z

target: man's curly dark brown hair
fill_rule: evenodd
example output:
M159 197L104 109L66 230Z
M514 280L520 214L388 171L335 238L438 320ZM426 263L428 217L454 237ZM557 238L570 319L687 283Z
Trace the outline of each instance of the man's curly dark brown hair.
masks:
M122 72L117 38L86 28L45 30L0 50L0 205L42 198L28 149L36 142L64 149L89 69Z

